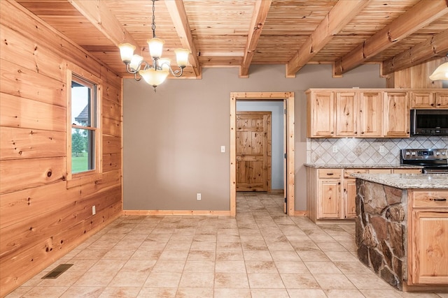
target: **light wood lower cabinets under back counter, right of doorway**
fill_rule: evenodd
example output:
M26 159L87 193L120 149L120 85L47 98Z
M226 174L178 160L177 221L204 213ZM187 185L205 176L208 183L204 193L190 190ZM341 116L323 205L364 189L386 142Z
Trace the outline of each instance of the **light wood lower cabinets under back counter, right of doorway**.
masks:
M420 169L341 169L307 167L307 216L320 219L356 218L356 179L353 173L419 174Z

